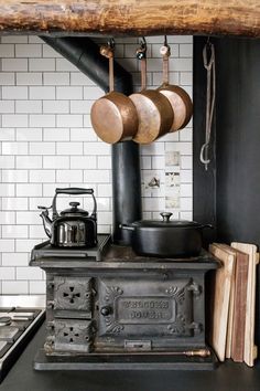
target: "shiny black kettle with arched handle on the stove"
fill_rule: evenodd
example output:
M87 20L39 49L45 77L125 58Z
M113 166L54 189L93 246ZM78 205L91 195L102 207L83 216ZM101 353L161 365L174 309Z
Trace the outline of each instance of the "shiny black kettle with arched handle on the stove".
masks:
M91 214L78 209L79 202L69 202L71 208L57 212L56 198L58 194L90 194L94 201ZM43 220L44 230L50 242L58 247L94 247L97 244L97 202L93 189L66 188L56 189L52 205L37 207ZM52 219L48 210L52 209Z

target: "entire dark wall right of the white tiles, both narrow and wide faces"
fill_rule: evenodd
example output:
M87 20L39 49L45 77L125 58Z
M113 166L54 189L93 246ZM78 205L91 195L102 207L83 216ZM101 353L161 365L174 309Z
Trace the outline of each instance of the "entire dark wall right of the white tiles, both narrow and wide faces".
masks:
M217 99L212 147L213 158L216 156L209 172L198 159L205 128L205 41L194 39L194 219L215 222L219 242L260 245L260 40L212 40ZM260 345L259 271L257 286L256 334Z

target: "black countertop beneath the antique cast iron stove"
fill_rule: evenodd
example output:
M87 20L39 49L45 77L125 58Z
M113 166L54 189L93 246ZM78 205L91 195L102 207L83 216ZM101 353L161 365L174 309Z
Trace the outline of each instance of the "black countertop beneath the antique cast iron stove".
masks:
M254 368L228 360L213 371L35 371L44 325L0 384L1 391L259 391Z

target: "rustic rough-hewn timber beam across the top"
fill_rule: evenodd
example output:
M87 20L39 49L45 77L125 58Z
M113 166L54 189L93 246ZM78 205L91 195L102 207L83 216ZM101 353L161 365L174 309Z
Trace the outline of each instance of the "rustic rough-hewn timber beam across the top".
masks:
M259 0L0 0L0 33L260 36Z

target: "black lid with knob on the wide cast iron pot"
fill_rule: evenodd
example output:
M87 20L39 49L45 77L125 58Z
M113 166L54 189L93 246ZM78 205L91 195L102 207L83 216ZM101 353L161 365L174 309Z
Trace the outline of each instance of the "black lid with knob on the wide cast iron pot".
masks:
M202 226L202 224L196 221L188 220L170 220L172 213L162 212L160 213L163 220L140 220L132 223L133 226L144 226L144 228L196 228Z

